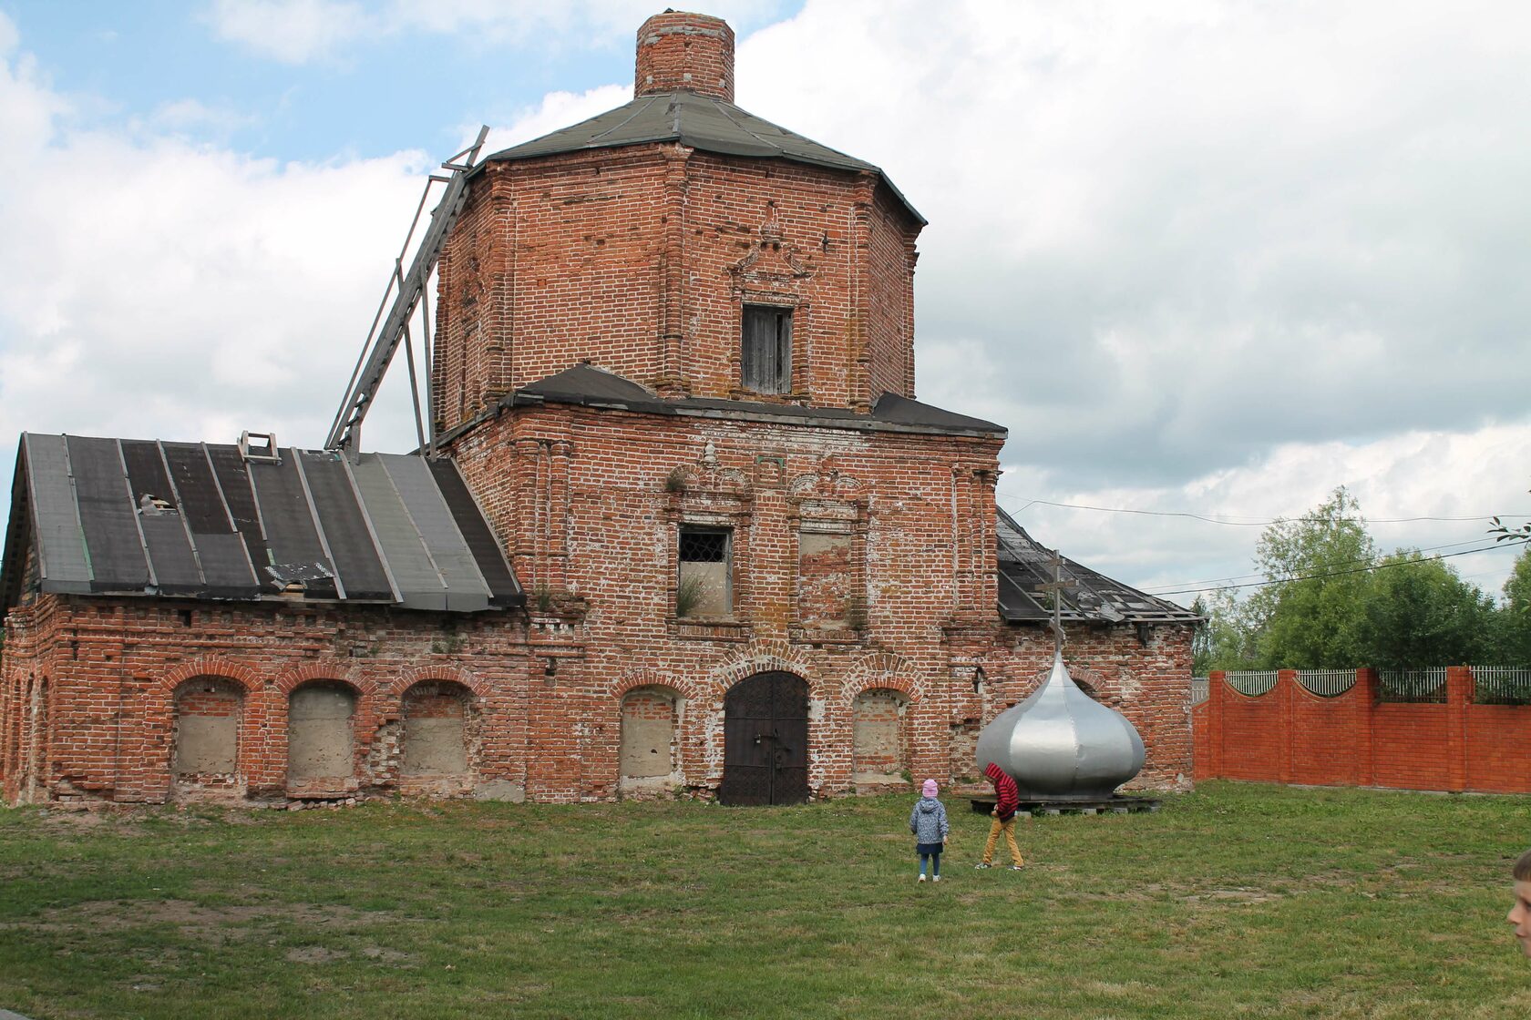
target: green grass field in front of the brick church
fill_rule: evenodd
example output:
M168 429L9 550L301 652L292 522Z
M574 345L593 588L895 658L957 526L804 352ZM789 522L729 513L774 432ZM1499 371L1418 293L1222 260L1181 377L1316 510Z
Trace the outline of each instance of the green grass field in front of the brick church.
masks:
M1208 783L972 864L914 797L0 812L0 1008L46 1017L1514 1017L1531 800ZM1001 850L1003 858L1003 850Z

